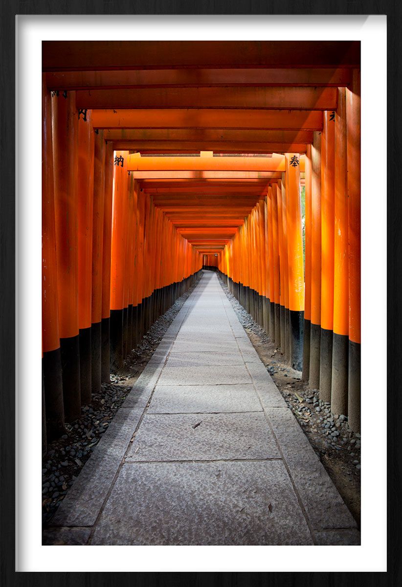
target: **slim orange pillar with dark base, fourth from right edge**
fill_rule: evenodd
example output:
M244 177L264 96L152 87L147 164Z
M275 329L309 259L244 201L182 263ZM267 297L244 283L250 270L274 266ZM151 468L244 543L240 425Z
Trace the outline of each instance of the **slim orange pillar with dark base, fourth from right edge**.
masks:
M320 386L321 346L321 133L311 147L311 298L309 386Z

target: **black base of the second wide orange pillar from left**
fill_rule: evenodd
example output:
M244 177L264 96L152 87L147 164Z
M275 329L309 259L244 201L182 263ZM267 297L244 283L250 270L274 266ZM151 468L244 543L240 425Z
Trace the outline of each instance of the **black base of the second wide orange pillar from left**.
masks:
M79 335L60 338L62 359L63 403L66 422L72 422L81 414L80 392L80 340Z

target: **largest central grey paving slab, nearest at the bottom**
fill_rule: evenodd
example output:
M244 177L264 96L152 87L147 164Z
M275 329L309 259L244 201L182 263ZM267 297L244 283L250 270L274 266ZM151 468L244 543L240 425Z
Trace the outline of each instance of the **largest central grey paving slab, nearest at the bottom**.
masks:
M91 544L313 544L281 461L125 464Z

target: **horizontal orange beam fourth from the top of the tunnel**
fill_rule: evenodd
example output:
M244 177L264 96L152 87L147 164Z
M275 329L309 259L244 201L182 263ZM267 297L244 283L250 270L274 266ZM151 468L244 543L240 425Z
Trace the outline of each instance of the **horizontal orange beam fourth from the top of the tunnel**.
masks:
M103 109L94 129L283 129L322 130L319 110Z

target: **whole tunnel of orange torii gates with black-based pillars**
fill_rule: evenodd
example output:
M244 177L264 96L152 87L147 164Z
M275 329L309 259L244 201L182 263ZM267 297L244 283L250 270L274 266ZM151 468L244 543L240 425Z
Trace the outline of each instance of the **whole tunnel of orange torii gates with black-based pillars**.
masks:
M360 43L43 42L42 90L45 442L202 267L359 431Z

